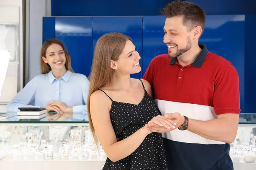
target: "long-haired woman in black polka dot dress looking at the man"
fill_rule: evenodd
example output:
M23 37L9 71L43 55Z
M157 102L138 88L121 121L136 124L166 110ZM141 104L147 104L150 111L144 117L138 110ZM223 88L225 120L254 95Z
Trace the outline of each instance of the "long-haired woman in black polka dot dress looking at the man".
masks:
M124 34L108 33L96 43L87 107L93 138L108 156L103 170L167 170L161 133L147 123L169 128L171 122L160 116L150 84L130 78L141 71L139 60Z

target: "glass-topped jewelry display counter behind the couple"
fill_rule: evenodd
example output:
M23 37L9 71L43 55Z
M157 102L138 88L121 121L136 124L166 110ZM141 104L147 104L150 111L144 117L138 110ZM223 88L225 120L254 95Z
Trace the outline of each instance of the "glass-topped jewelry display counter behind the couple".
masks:
M0 167L101 170L107 156L101 146L97 150L87 117L81 115L47 113L20 119L17 113L0 113ZM256 169L256 114L241 113L230 156L234 170Z

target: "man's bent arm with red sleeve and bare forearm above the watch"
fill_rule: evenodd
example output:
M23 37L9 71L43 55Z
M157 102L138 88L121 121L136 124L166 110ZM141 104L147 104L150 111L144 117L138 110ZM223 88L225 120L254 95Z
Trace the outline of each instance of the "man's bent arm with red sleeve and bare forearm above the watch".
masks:
M191 119L188 130L207 139L232 143L240 114L239 77L233 66L219 70L215 77L213 107L218 119Z

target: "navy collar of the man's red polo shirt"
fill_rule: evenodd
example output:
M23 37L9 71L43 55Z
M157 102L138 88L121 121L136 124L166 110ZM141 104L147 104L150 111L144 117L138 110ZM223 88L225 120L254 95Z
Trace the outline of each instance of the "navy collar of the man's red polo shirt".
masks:
M198 57L195 59L195 61L192 63L192 66L201 68L201 66L203 65L204 59L208 54L208 50L204 44L199 44L199 47L202 49L202 51L200 52ZM178 59L174 58L174 59L171 59L171 62L169 64L170 65L175 64L176 62L178 62Z

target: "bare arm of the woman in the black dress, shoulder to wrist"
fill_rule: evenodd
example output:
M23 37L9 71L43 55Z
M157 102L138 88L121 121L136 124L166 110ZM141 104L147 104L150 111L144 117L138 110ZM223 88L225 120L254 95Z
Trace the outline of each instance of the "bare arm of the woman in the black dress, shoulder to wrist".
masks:
M90 96L90 115L96 135L108 158L115 162L131 155L151 131L144 126L117 142L109 114L110 105L111 100L101 91L95 91Z

